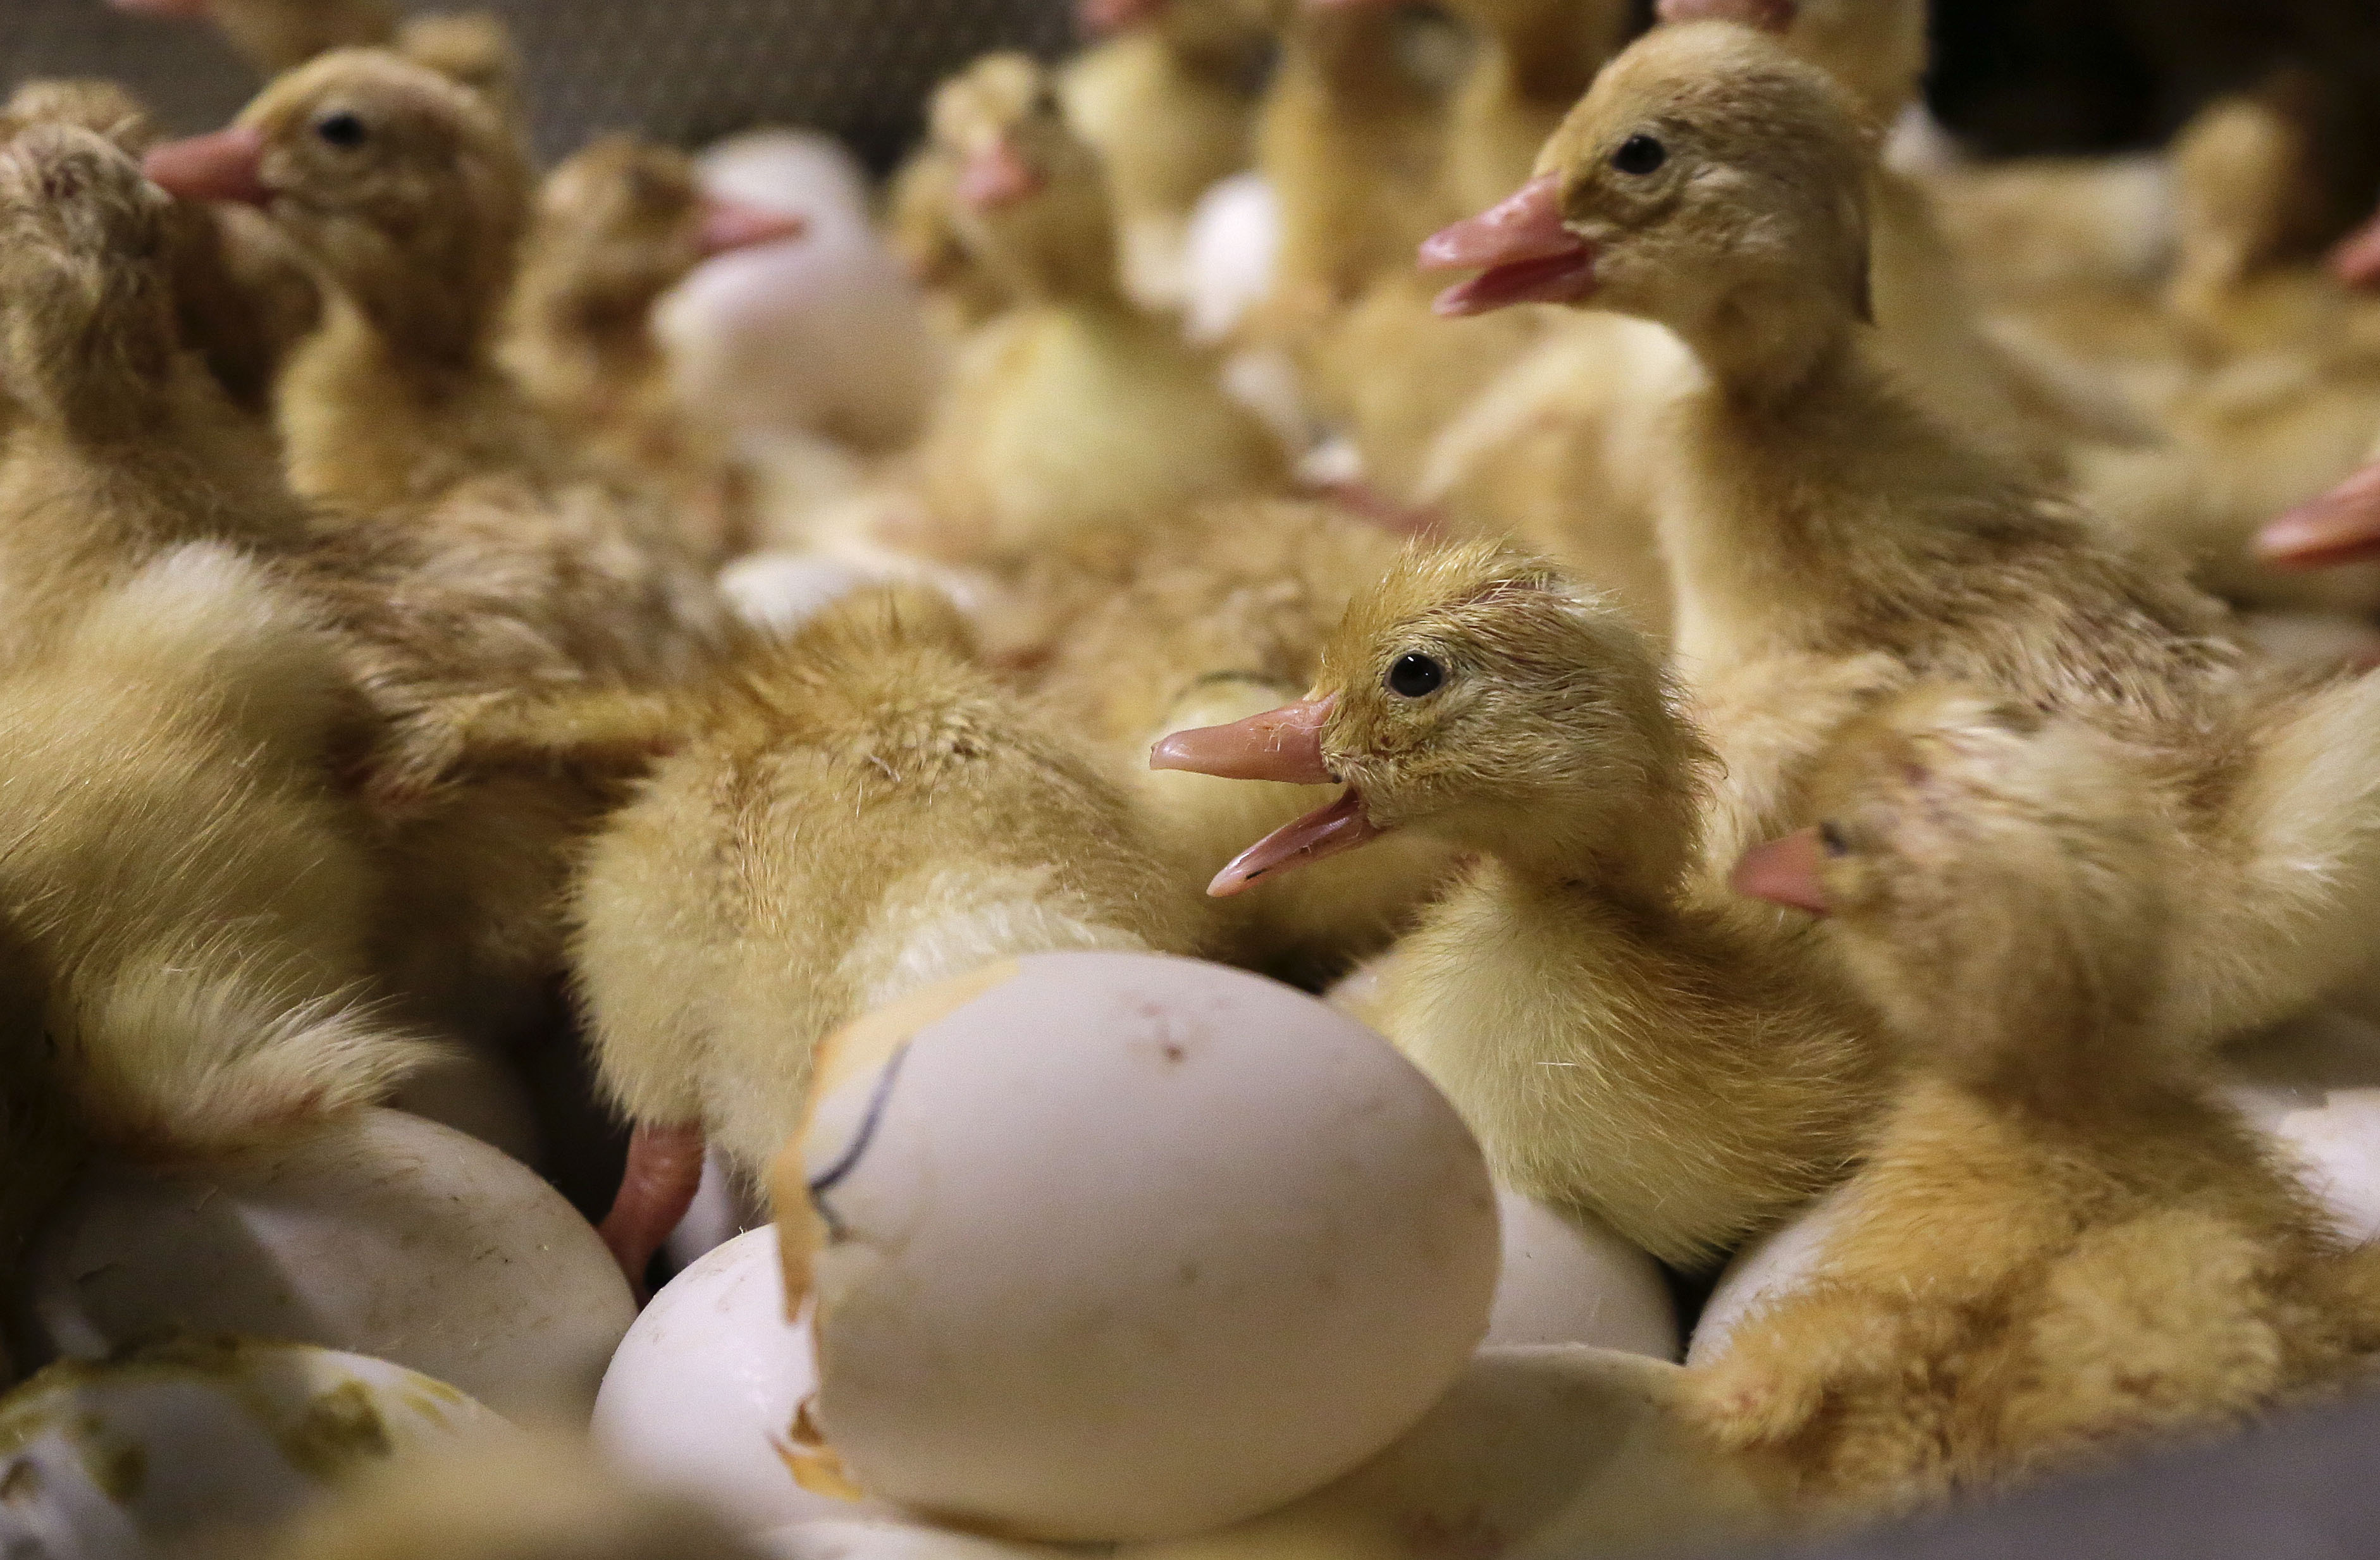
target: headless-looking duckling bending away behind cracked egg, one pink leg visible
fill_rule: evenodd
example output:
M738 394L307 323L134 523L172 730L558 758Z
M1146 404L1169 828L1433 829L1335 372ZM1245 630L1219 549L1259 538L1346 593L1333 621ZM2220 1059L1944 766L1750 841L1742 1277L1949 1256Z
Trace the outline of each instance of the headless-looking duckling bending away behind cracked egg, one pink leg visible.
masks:
M631 1277L702 1139L766 1168L843 1023L992 958L1200 935L1121 787L973 661L940 597L854 597L704 704L574 892L595 1058L638 1127L605 1225Z

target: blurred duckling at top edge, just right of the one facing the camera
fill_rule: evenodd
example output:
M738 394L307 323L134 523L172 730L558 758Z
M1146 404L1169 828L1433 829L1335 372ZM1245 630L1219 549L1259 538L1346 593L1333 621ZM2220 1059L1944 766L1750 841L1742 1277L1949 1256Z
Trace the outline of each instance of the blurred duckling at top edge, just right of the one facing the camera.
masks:
M1250 162L1257 81L1271 50L1266 0L1081 0L1102 38L1066 64L1066 121L1107 166L1123 290L1180 309L1200 195Z

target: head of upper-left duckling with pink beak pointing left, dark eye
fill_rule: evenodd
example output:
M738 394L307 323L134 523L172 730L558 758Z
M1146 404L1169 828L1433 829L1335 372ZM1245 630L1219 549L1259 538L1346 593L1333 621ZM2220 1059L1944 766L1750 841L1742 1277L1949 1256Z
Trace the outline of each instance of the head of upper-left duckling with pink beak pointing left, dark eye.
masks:
M262 207L331 288L407 352L466 359L528 221L528 155L471 88L386 50L281 76L214 136L148 157L193 200Z

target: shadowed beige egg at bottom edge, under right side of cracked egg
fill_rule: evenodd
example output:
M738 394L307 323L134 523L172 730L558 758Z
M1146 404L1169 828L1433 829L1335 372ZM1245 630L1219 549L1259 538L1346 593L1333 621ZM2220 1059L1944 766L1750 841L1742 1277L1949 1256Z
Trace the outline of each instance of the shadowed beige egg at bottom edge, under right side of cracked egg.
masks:
M1606 1348L1485 1348L1345 1479L1119 1560L1578 1560L1787 1529L1783 1501L1678 1415L1683 1375Z

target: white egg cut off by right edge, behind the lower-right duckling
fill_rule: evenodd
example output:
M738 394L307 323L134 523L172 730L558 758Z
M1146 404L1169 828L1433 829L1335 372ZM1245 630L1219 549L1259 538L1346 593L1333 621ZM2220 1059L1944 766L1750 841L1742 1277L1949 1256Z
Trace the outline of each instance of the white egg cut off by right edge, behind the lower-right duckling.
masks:
M2380 1025L2306 1013L2223 1053L2230 1101L2349 1241L2380 1239Z

